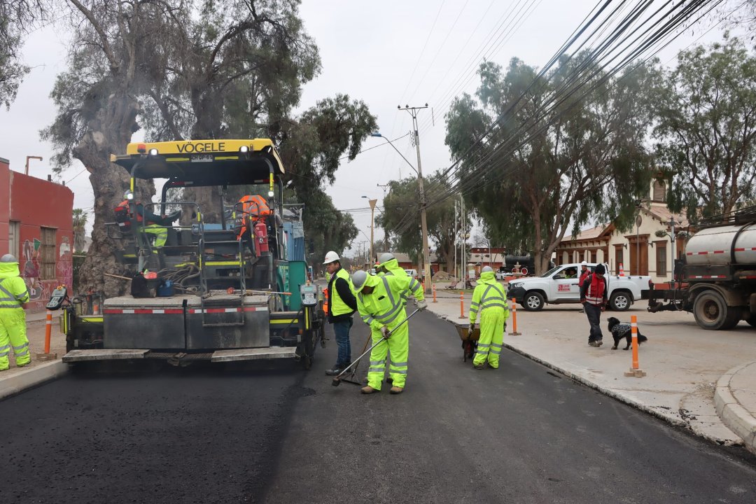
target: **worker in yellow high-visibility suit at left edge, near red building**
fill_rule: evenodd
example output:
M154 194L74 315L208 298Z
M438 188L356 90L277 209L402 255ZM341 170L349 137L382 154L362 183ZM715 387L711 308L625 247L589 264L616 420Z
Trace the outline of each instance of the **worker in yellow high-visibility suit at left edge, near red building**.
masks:
M16 366L23 367L32 357L26 339L26 314L29 290L18 272L18 260L11 254L0 258L0 371L10 366L8 355L16 356Z

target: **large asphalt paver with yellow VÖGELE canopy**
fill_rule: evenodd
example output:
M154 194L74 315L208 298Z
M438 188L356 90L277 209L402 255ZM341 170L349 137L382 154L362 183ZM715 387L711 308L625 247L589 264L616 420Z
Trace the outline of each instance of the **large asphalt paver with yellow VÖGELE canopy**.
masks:
M105 299L101 314L82 314L76 299L54 295L64 362L288 357L309 368L324 342L323 300L308 280L301 212L282 203L285 172L272 142L129 144L111 161L131 181L107 232L132 271L132 293ZM166 179L160 202L141 199L139 179ZM217 222L181 200L187 187L218 191ZM245 196L228 202L234 190Z

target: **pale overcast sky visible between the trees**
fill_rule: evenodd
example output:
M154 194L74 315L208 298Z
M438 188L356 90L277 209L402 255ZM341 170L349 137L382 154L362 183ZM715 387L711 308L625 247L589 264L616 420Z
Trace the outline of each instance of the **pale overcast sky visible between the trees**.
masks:
M411 117L397 105L429 109L420 112L420 152L423 173L449 164L444 144L445 119L451 97L473 93L474 74L482 58L506 65L519 57L532 66L543 66L572 34L596 0L303 0L301 16L317 42L323 71L305 85L301 108L324 97L346 93L364 100L378 117L380 133L395 139L411 130ZM661 5L662 2L659 2ZM699 40L711 27L692 26L670 48L659 54L662 63L673 64L680 48L720 38L719 27ZM39 140L39 130L54 118L49 94L54 79L65 69L67 37L61 27L41 29L26 43L26 64L33 67L10 111L0 110L0 157L11 169L23 172L26 156L29 173L46 178L52 146ZM368 138L363 148L381 146L380 138ZM395 146L412 163L417 156L410 136ZM77 162L78 163L78 162ZM62 179L75 193L74 206L93 206L88 174L72 165ZM378 184L411 175L412 169L389 145L343 162L336 184L328 193L338 209L350 210L361 230L355 241L370 236L369 198L383 199ZM353 211L353 209L362 209ZM92 218L90 218L90 221ZM91 223L90 223L91 225ZM382 233L376 231L376 239Z

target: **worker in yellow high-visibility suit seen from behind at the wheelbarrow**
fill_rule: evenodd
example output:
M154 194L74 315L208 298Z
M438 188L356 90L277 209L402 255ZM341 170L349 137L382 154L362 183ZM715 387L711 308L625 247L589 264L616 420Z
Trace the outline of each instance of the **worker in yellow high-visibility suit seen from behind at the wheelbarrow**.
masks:
M504 288L496 280L494 269L490 266L483 267L478 285L472 292L470 332L475 329L478 312L480 312L480 339L472 365L475 369L483 369L488 360L488 366L498 369L504 342L504 328L510 317L510 308L507 305Z

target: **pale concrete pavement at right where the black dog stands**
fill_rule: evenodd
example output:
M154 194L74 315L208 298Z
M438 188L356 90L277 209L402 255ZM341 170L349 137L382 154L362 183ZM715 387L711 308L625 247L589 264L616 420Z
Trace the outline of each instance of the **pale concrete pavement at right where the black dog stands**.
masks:
M458 292L438 289L436 298L434 303L429 296L429 311L451 323L469 324L469 291L464 296L464 318L460 318ZM630 311L603 314L604 345L593 348L587 344L589 326L580 308L518 309L521 335L509 334L513 331L510 316L504 345L704 438L742 445L756 453L756 329L741 322L731 331L706 331L692 314L649 314L641 301ZM632 366L632 352L622 350L624 340L618 350L612 350L612 334L606 329L607 317L630 322L631 315L637 316L640 332L649 338L640 345L643 378L624 376ZM456 337L456 332L450 334ZM507 365L506 358L502 365Z

